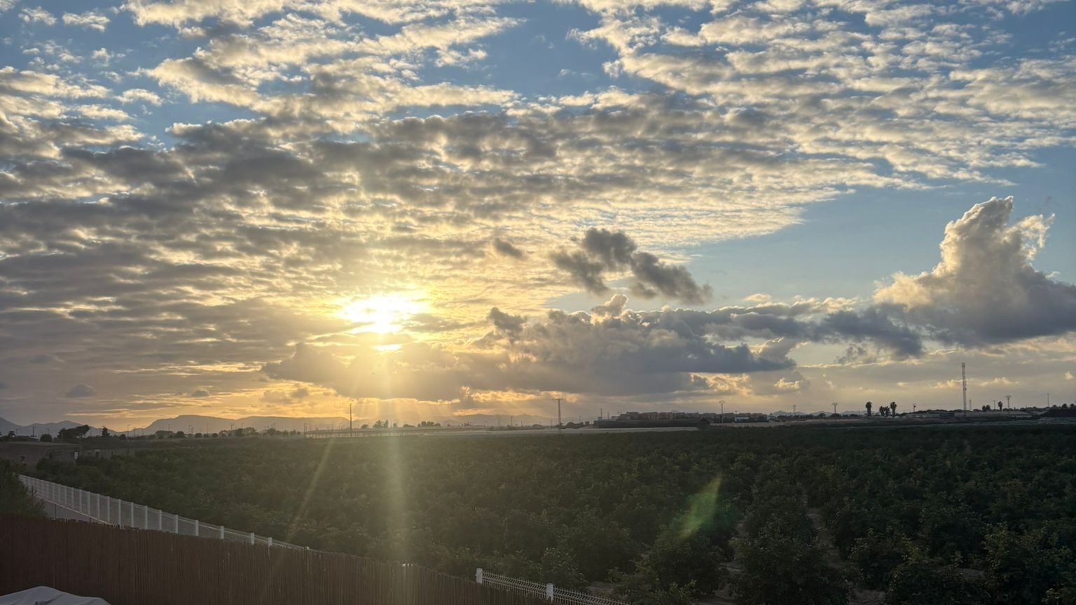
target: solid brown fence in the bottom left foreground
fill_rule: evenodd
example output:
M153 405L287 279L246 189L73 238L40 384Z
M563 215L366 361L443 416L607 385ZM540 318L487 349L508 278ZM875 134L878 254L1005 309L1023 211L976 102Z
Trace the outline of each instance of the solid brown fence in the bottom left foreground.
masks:
M416 565L101 523L0 516L0 594L52 586L111 605L548 603Z

